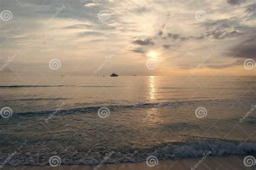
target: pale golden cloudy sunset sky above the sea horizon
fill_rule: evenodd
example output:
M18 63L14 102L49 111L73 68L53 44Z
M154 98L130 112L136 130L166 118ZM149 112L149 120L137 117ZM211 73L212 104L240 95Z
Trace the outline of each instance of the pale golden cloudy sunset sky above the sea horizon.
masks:
M0 0L0 12L1 74L256 75L254 0Z

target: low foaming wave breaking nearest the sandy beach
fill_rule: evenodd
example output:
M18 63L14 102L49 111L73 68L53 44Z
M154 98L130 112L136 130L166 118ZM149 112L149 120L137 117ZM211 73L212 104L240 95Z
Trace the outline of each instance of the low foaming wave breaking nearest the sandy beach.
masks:
M196 138L191 137L191 141L171 142L169 144L161 144L148 148L105 148L102 147L97 151L87 152L86 148L79 149L75 147L65 149L65 151L54 150L48 152L49 148L41 148L41 161L38 161L38 151L30 151L26 153L17 153L9 162L12 166L45 166L49 164L49 158L58 155L64 165L98 165L102 160L105 164L122 164L126 162L142 162L147 157L154 155L159 160L180 159L187 157L204 157L208 155L233 155L233 154L252 154L256 152L256 143L243 142L235 140L224 140L216 138ZM110 154L111 153L111 154ZM36 155L33 155L36 154ZM30 155L30 159L26 159L26 155ZM106 155L109 157L106 159ZM0 161L8 157L8 153L2 154Z

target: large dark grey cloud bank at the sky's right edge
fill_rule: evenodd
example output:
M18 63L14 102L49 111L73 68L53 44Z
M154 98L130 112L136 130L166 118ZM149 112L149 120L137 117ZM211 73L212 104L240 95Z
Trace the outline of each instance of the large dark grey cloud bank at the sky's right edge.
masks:
M251 39L247 39L244 42L227 49L225 54L227 56L234 56L237 58L256 59L256 35Z

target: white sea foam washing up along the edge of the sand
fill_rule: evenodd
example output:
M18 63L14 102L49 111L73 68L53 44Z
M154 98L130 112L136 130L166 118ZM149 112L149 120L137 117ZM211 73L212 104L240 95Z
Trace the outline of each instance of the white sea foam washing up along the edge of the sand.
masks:
M188 145L177 146L169 144L165 147L154 147L153 152L145 151L143 153L138 153L131 151L130 153L121 153L114 151L109 159L107 159L104 164L121 164L124 162L141 162L145 161L150 155L155 155L158 159L179 159L185 157L201 157L204 154L211 152L211 155L231 155L231 154L250 154L256 152L255 143L242 143L232 144L232 142L225 142L220 140L207 140L206 142L190 143ZM37 151L35 151L37 152ZM104 159L105 155L98 152L92 152L89 157L86 157L86 153L75 152L75 153L57 153L51 152L47 153L41 151L40 155L44 160L39 161L39 153L28 152L26 154L18 153L9 164L12 166L21 165L32 165L32 166L45 166L48 164L47 158L52 155L58 155L62 159L62 164L83 164L83 165L98 165ZM43 153L45 152L45 154ZM8 155L1 155L0 162L8 157Z

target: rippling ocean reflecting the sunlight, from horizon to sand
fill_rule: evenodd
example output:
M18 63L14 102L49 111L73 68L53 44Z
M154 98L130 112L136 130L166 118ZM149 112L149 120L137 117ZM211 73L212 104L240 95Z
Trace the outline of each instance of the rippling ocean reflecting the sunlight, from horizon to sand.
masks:
M13 155L12 166L44 166L53 156L98 165L256 151L255 76L1 76L0 83L0 162Z

